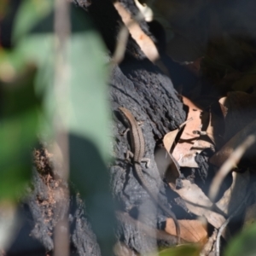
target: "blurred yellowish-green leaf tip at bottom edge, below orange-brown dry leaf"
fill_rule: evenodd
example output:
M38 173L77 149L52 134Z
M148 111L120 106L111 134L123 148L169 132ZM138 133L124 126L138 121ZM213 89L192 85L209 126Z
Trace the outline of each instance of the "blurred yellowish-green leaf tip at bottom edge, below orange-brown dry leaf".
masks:
M177 247L162 250L160 256L198 256L201 252L201 247L196 245L182 245Z

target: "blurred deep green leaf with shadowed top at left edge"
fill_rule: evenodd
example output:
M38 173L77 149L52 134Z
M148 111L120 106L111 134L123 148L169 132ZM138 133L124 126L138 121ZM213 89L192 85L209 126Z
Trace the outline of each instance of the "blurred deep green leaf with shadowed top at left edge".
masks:
M17 199L32 170L32 147L37 140L40 99L33 90L34 72L2 84L0 119L0 199Z

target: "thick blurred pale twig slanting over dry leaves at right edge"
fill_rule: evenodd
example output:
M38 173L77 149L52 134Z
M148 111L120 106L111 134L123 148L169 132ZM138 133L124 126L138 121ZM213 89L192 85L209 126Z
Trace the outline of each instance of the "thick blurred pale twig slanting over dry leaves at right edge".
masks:
M218 193L218 188L220 184L224 181L224 177L228 175L230 170L241 160L242 155L246 152L247 148L250 148L255 142L256 137L254 135L250 135L247 139L238 146L230 157L224 162L224 164L220 167L218 173L212 180L211 187L209 189L209 198L213 202L215 201L216 195Z

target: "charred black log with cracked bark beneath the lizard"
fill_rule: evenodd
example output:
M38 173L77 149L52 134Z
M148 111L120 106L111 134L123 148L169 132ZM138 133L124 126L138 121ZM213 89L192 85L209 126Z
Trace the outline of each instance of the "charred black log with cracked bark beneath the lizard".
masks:
M103 2L93 1L88 7L88 12L112 54L123 23L111 1ZM132 15L137 14L137 7L133 1L122 1L122 3L130 9ZM147 23L142 22L142 25L143 31L150 35ZM125 153L127 149L130 149L130 144L127 137L122 135L127 126L118 108L128 108L137 121L143 121L142 129L146 141L145 157L150 159L150 167L147 169L143 166L144 176L151 187L156 191L159 190L161 203L170 207L168 203L171 201L173 203L175 197L178 196L170 193L172 198L167 198L166 189L170 189L160 178L154 161L154 150L166 132L176 129L184 121L183 104L173 88L171 79L146 59L131 37L127 42L124 61L119 66L113 67L110 96L115 137L113 153L116 159L110 167L114 199L118 202L119 210L127 212L128 216L137 219L140 212L143 212L143 218L140 221L147 224L148 228L162 228L165 226L166 215L160 210L154 211L154 202L138 181L134 166L125 161ZM154 237L144 236L143 230L138 230L137 226L128 219L126 221L118 219L119 241L137 253L152 251L155 246ZM165 243L162 239L157 239L160 243ZM175 239L170 239L168 245L175 241Z

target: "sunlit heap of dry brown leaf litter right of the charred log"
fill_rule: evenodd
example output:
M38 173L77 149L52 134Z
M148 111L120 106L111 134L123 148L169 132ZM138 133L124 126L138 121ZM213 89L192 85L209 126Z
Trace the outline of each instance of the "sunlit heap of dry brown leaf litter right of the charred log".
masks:
M239 98L241 98L241 102ZM229 93L227 97L220 99L218 102L218 108L221 110L219 115L212 111L211 106L209 108L198 107L183 96L183 104L188 107L187 121L183 124L183 129L178 128L171 131L163 139L166 152L170 160L175 163L172 170L166 172L166 180L169 182L171 189L185 201L189 212L194 213L199 218L206 218L207 224L211 224L215 230L223 229L221 235L227 241L230 239L230 230L226 226L230 218L227 220L227 217L232 216L232 213L236 212L238 207L241 207L247 195L250 172L232 172L233 182L230 188L224 191L218 202L215 202L215 196L220 184L224 181L224 177L232 170L237 171L236 165L242 157L247 156L248 160L254 160L253 151L255 150L247 150L255 140L252 137L247 138L256 131L256 120L252 121L254 118L253 102L256 102L254 98L255 96L243 92ZM247 114L243 114L245 108L249 110ZM237 119L242 119L241 123L237 124L234 121ZM250 121L252 122L250 123ZM227 141L227 138L234 131L235 136ZM248 140L249 143L247 143ZM214 179L212 180L209 195L206 195L195 183L190 183L186 179L181 182L182 188L177 189L173 177L180 177L180 168L182 167L198 168L195 155L200 154L201 151L207 148L211 148L212 152L216 151L210 158L210 163L218 167L222 166L226 174L219 179L218 183L214 183ZM240 150L240 156L234 159L233 155L234 152L236 154L237 150ZM228 162L229 167L225 166L224 162ZM220 168L215 179L219 176L218 173L221 174L222 172ZM215 190L214 196L211 194L212 188ZM181 237L188 242L204 241L206 243L207 236L210 236L206 233L206 225L198 219L195 219L193 224L191 221L190 219L179 220ZM175 235L175 225L171 218L167 219L166 232Z

